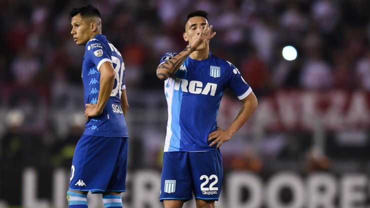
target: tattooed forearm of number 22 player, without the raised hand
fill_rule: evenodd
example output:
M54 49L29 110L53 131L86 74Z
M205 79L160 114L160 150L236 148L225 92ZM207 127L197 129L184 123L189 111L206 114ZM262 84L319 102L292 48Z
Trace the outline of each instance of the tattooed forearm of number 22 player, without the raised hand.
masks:
M156 68L156 76L162 81L166 80L178 70L180 65L185 61L187 56L194 51L194 49L195 48L191 48L190 45L187 45L181 52L177 53L164 63L158 65Z

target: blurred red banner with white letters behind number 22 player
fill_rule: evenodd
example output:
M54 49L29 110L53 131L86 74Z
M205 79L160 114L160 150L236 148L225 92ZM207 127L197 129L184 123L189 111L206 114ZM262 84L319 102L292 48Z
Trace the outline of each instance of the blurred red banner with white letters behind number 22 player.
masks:
M247 127L258 125L265 130L312 130L317 125L325 130L367 129L370 127L370 93L345 90L281 90L257 97L258 108ZM224 96L219 110L219 123L232 122L241 102Z

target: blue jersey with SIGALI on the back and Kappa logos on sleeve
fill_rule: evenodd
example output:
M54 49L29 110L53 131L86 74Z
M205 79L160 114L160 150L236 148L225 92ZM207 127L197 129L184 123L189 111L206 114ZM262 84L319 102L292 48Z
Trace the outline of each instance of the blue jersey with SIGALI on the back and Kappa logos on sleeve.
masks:
M84 103L97 103L100 90L99 67L105 61L112 63L115 80L112 92L103 112L96 117L89 117L84 134L104 137L128 137L120 95L125 89L125 68L121 54L105 37L97 34L85 45L82 62L82 82Z

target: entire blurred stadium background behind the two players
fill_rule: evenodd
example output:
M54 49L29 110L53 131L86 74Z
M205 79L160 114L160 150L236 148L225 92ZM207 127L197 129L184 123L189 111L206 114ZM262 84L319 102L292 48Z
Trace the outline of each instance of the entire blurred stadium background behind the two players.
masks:
M162 53L185 47L193 9L209 12L211 51L238 67L259 102L221 146L217 207L370 205L369 0L0 0L0 207L67 206L84 127L83 47L72 41L68 11L87 3L99 8L126 66L124 207L161 207L167 107L155 68ZM283 58L286 45L296 59ZM227 91L219 125L239 107ZM89 197L90 207L103 207Z

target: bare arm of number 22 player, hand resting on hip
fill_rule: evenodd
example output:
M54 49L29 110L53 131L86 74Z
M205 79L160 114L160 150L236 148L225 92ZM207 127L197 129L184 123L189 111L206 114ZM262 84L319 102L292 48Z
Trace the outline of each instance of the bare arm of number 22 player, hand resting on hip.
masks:
M209 146L212 146L218 142L216 146L216 148L218 148L223 142L230 140L257 108L257 98L253 92L250 92L248 96L241 101L243 102L243 106L240 108L239 113L234 121L232 121L231 125L225 130L217 127L215 131L209 133L208 141L213 140Z

